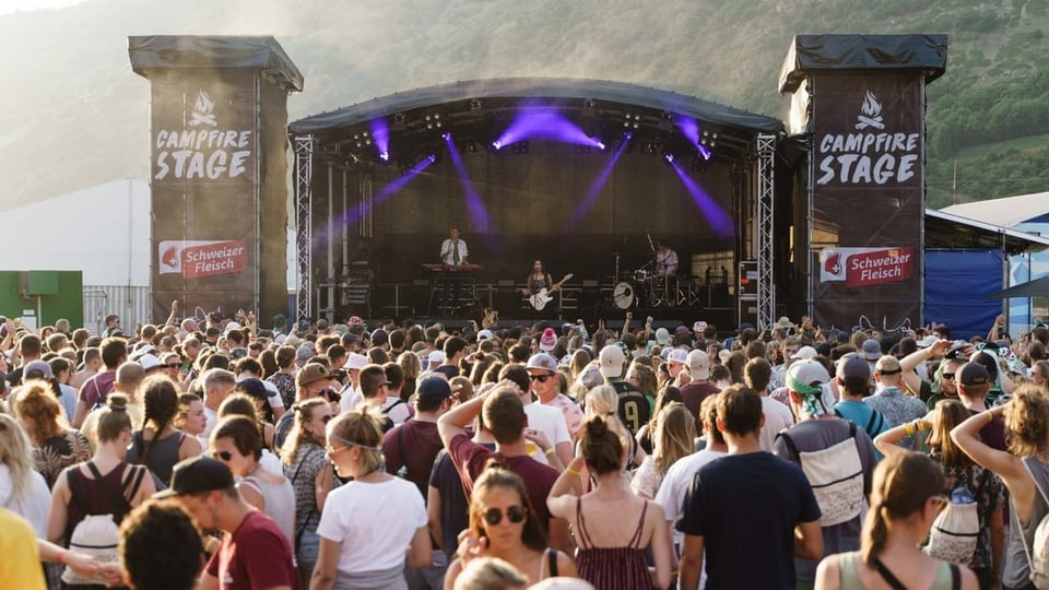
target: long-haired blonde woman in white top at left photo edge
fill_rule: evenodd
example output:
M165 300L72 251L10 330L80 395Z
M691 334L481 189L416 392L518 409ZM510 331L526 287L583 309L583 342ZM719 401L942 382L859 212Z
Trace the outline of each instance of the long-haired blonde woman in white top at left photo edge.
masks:
M28 520L36 536L45 538L50 505L47 482L33 469L28 437L13 417L0 414L0 506Z

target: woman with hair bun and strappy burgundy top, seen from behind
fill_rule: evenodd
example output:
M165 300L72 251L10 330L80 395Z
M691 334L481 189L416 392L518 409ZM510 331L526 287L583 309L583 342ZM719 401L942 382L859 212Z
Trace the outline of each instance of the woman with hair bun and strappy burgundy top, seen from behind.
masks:
M677 422L694 423L691 415ZM667 588L673 559L669 529L658 505L632 493L622 477L625 439L600 416L584 428L581 456L573 459L546 498L551 515L575 523L579 576L599 590ZM569 491L578 484L574 480L584 463L597 486L574 496ZM652 552L655 576L648 571L646 547Z

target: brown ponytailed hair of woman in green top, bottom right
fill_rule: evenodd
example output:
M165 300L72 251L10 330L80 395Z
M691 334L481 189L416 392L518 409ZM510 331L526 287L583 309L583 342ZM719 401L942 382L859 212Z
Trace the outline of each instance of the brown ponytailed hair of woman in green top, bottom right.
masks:
M874 469L871 509L863 523L860 553L863 563L874 560L885 548L888 522L921 511L929 498L943 494L943 470L928 455L897 452L882 459Z

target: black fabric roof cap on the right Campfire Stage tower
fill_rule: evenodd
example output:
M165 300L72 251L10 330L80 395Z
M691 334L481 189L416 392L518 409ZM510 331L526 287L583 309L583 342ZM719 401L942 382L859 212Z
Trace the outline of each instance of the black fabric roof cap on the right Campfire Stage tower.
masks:
M946 35L795 35L779 73L779 92L794 92L816 70L864 70L867 75L919 70L929 83L946 67Z

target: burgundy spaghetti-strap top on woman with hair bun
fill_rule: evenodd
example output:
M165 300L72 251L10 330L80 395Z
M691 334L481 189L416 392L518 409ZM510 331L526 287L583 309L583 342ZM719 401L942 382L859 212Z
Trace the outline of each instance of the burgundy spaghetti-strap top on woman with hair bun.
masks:
M576 568L579 577L592 583L597 590L651 590L652 578L648 574L645 547L640 546L647 511L646 502L634 536L625 547L596 547L587 532L582 498L576 498L576 530L579 531Z

